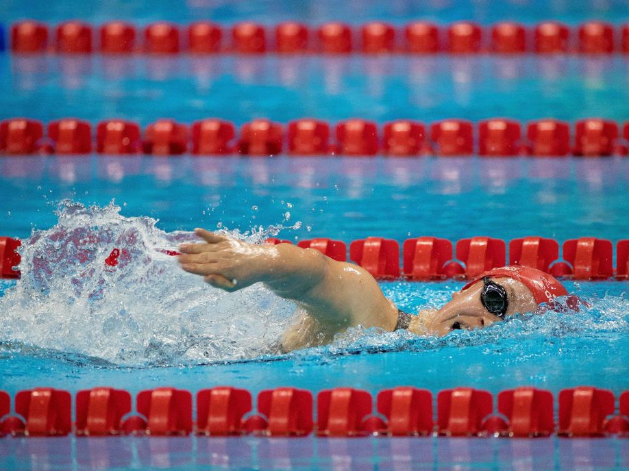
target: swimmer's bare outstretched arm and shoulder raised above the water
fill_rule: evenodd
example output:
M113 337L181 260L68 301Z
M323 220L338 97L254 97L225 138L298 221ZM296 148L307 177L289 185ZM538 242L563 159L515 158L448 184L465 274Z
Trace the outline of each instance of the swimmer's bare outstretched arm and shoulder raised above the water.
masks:
M205 242L180 247L184 270L230 292L261 281L306 311L284 333L285 350L330 342L335 333L358 324L395 328L395 305L359 266L291 244L254 245L204 229L195 233Z

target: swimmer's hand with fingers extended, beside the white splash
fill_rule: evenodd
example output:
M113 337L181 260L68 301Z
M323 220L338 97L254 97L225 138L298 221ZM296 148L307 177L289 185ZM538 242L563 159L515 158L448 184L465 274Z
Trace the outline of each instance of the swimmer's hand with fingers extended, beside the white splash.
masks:
M179 262L186 272L201 275L206 283L229 292L264 281L260 264L268 264L266 259L271 255L266 247L205 229L195 229L195 234L204 242L179 248Z

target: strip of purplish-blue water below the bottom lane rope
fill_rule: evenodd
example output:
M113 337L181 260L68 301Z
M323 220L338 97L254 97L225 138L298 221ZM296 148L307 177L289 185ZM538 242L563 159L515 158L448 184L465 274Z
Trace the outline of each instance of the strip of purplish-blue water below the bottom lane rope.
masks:
M0 439L0 469L615 470L626 438L56 437Z

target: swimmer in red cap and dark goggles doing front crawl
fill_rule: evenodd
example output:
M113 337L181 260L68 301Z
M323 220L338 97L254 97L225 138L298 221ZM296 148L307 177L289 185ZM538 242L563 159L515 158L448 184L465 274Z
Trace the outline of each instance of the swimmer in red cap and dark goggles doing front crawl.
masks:
M385 298L371 274L358 265L292 244L248 244L204 229L195 229L195 234L204 242L180 246L179 262L186 272L227 292L262 282L301 307L301 315L282 336L284 351L327 344L336 333L358 325L408 329L417 335L480 329L516 313L538 311L539 305L552 305L554 298L568 294L551 275L534 268L495 268L467 283L440 309L413 316Z

